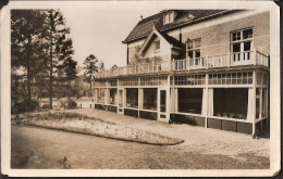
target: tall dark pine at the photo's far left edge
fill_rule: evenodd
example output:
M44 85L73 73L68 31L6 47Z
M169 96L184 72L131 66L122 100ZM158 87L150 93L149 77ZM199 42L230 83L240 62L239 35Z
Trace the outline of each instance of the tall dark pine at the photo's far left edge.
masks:
M38 66L45 68L46 64L46 43L42 40L45 31L41 30L45 17L42 10L11 11L12 80L21 79L21 81L25 81L27 95L23 97L23 99L27 103L28 111L32 110L32 87L36 86L36 84L33 84L33 80L40 76L40 68ZM22 77L15 77L17 73ZM12 93L17 93L14 90L16 89L12 89ZM17 99L14 97L14 100L16 101Z

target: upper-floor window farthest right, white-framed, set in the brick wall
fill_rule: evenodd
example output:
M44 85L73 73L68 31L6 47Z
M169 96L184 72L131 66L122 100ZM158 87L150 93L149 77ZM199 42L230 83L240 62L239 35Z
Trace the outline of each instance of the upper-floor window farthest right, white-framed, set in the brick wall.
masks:
M253 28L241 29L231 33L231 50L234 62L250 60L251 47Z

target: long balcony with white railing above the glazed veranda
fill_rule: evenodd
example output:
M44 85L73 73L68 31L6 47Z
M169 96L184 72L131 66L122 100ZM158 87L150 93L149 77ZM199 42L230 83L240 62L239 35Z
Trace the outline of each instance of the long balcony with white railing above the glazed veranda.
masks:
M103 71L95 74L96 78L108 78L137 74L160 72L211 69L218 67L233 67L244 65L269 66L268 55L258 51L246 51L219 55L207 55L196 59L172 60L171 62L150 62L128 65L116 69Z

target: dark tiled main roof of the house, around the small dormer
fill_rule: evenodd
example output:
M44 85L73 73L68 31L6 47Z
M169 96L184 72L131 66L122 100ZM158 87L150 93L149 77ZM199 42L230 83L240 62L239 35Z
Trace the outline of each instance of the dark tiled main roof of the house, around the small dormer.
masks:
M177 16L172 23L163 24L163 14L169 11L175 11ZM135 28L130 33L124 43L135 41L147 37L156 23L156 29L159 31L168 31L181 26L190 25L200 21L206 21L211 17L217 17L223 14L237 12L239 10L165 10L158 14L151 15L138 22Z

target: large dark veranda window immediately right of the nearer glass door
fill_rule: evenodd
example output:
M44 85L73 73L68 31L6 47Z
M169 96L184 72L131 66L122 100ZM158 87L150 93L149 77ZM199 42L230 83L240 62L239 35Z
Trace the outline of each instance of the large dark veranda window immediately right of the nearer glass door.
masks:
M177 111L181 113L201 114L202 88L179 88Z

